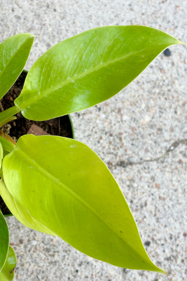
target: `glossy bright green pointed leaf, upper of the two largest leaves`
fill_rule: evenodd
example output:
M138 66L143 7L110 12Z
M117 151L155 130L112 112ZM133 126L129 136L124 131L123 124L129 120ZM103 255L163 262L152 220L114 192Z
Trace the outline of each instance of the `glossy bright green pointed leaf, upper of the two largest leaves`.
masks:
M15 100L23 116L47 120L114 96L165 48L181 43L145 26L99 27L58 43L31 67Z

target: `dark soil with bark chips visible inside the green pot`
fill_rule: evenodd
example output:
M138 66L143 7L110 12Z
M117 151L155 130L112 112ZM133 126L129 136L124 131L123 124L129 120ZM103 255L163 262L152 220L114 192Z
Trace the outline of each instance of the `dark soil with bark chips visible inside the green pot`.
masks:
M14 100L20 95L23 84L26 78L27 72L23 71L18 77L17 81L7 92L7 94L0 101L0 112L7 108L14 106ZM16 115L17 119L13 120L4 126L1 130L12 137L14 141L17 141L20 136L26 134L40 135L54 135L64 136L67 138L74 138L74 130L72 121L69 115L57 117L47 121L32 121L22 116L21 112ZM11 215L6 204L0 196L0 209L2 213L7 216Z

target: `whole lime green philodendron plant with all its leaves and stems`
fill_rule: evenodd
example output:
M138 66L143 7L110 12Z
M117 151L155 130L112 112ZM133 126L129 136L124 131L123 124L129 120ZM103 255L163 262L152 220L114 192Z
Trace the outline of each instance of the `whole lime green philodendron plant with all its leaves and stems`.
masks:
M22 72L33 41L33 35L24 33L1 43L0 98ZM0 113L0 126L20 111L27 119L44 121L107 100L179 43L144 26L99 27L66 39L36 60L15 106ZM113 175L87 145L34 135L20 137L15 145L3 135L0 158L0 194L24 225L115 266L166 274L146 253ZM0 251L0 280L12 280L16 257L2 213Z

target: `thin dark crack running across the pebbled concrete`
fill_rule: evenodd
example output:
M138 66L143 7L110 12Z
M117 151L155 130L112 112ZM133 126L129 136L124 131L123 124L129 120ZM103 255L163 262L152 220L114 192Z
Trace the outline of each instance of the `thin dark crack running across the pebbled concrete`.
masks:
M158 160L160 160L161 158L164 158L165 156L169 155L169 153L170 153L171 151L174 151L174 150L177 148L177 146L179 146L180 144L185 144L185 145L187 145L187 139L182 139L182 140L179 140L179 141L174 141L174 142L169 146L169 148L165 151L165 153L162 154L162 155L159 156L159 157L156 157L156 158L153 158L153 159L144 159L144 160L140 160L140 161L138 161L138 162L123 161L123 160L121 160L121 161L118 161L118 162L117 162L116 166L121 166L121 167L123 167L123 168L126 168L126 167L129 166L129 165L131 165L131 166L132 166L132 165L140 165L140 164L146 163L146 162L158 161Z

